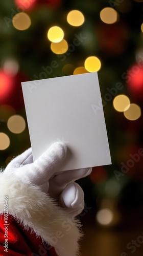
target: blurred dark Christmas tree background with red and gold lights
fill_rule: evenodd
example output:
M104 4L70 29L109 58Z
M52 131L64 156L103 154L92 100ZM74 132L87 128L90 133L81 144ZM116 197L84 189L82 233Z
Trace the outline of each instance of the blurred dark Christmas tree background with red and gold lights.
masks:
M98 71L112 165L78 181L83 256L143 252L142 2L0 2L0 167L30 147L22 81Z

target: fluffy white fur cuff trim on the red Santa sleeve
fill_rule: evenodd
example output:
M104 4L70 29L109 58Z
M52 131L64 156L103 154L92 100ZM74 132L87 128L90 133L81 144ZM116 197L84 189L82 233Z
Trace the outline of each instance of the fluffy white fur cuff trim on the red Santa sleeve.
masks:
M8 213L54 246L58 256L79 255L80 223L37 185L24 183L12 173L1 172L0 195L0 214L4 212L4 197L8 196Z

